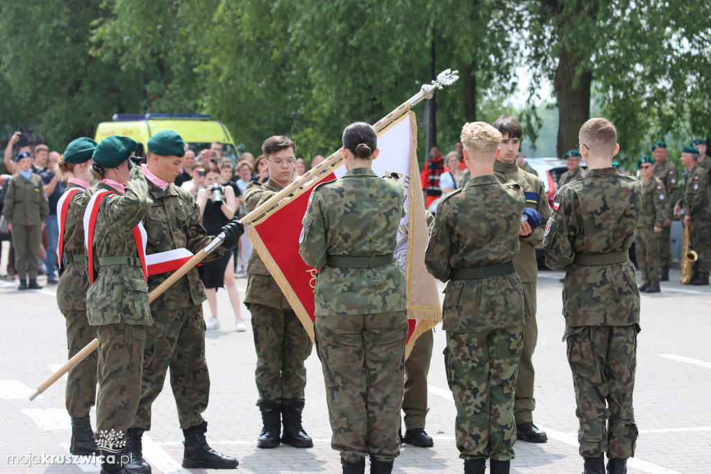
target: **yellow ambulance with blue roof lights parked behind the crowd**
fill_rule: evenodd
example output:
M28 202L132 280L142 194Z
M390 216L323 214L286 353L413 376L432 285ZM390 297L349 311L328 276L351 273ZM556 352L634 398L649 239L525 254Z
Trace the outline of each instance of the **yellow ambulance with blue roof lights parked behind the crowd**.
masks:
M198 153L210 148L212 142L223 144L223 157L237 163L237 148L230 131L218 120L212 120L210 115L201 114L114 114L111 122L101 122L96 129L97 142L111 135L131 137L139 143L137 156L145 156L146 144L153 135L161 130L175 130L188 143L188 146Z

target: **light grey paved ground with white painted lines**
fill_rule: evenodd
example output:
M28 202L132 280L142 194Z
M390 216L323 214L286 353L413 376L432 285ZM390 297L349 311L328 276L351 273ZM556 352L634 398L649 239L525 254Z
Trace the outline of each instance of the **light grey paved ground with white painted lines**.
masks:
M0 275L5 273L7 243L1 246ZM711 472L711 289L682 286L679 271L662 293L642 295L635 413L641 431L630 474ZM570 369L561 341L562 273L541 271L538 285L539 339L535 352L535 423L547 431L547 443L518 442L512 473L580 473L577 418ZM40 278L40 283L44 278ZM237 279L242 297L247 280ZM65 322L57 309L55 287L16 290L0 281L0 472L97 473L87 458L68 456L69 417L65 411L65 379L39 399L27 394L66 361ZM444 288L444 285L441 285ZM225 291L218 292L220 330L208 331L207 356L212 387L205 411L208 441L213 448L240 460L237 472L338 473L338 453L331 449L324 379L315 354L307 360L304 428L314 448L256 447L261 428L255 406L255 351L250 325L235 332ZM209 314L205 304L205 314ZM242 306L245 319L249 312ZM429 374L427 432L434 448L402 446L394 473L461 473L454 444L454 402L444 376L444 332L437 327ZM153 472L183 470L182 433L169 386L154 404L154 428L144 436L144 453ZM92 412L92 423L95 425Z

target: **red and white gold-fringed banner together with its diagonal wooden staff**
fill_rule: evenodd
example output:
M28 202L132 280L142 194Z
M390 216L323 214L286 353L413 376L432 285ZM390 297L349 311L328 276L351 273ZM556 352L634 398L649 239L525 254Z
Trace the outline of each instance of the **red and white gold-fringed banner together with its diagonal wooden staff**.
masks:
M458 71L451 71L449 69L442 71L437 75L437 79L432 81L432 84L422 85L419 92L413 95L410 99L403 102L395 110L385 115L381 120L376 122L373 127L378 132L378 137L383 140L383 144L389 142L387 135L389 132L398 132L402 134L403 129L406 129L406 135L397 135L397 137L408 136L407 149L404 154L410 160L408 163L407 159L400 160L400 169L390 169L396 165L392 162L387 162L383 160L380 162L384 169L388 172L397 172L401 175L401 179L405 176L410 175L410 170L414 169L417 172L417 157L415 155L415 149L417 148L417 125L415 123L414 113L410 112L410 109L417 105L424 99L431 99L434 97L434 92L437 89L442 89L446 85L454 83L459 76ZM409 129L409 130L408 130ZM393 135L393 137L395 137ZM390 140L392 142L398 142L398 139ZM381 146L381 149L383 147ZM400 144L400 149L388 148L392 150L392 154L403 154L402 144ZM383 157L387 156L387 152L383 154ZM306 327L306 331L309 332L311 339L314 339L313 331L313 321L314 321L314 290L309 286L311 291L311 310L308 312L304 308L304 293L301 293L302 298L296 295L296 292L292 288L292 282L290 282L284 273L282 272L282 267L279 267L274 258L268 253L266 247L263 243L263 238L255 227L262 226L269 223L269 216L274 215L279 209L283 209L289 204L300 203L302 205L301 214L298 211L294 211L291 214L296 214L298 220L298 226L296 228L296 236L294 237L294 242L292 244L295 248L294 253L290 256L294 262L300 262L301 266L308 268L309 278L300 278L301 286L303 287L303 281L306 281L306 285L309 285L311 278L315 278L316 270L311 269L306 266L306 264L301 260L299 256L299 232L301 231L301 217L306 211L306 204L308 201L308 195L306 191L310 191L316 184L323 181L324 179L335 179L336 175L343 174L344 171L339 171L338 168L343 164L343 157L341 157L341 150L331 154L324 162L321 162L313 169L309 170L301 176L299 179L294 181L291 185L279 191L277 194L272 196L263 204L257 206L257 208L247 214L247 216L240 219L240 222L247 227L247 236L250 237L255 246L257 246L257 251L260 252L260 256L267 264L267 268L274 275L275 280L279 284L279 287L284 291L284 295L287 296L289 303L294 307L294 311L299 315L299 320ZM391 166L388 166L391 165ZM379 172L380 170L378 170ZM407 174L403 173L407 172ZM383 171L385 174L385 171ZM417 183L415 179L415 183ZM437 322L442 320L442 310L439 307L439 295L437 295L437 285L434 278L427 273L424 268L424 247L427 245L427 228L424 221L424 203L422 201L422 189L419 186L406 186L408 191L408 197L406 199L407 203L407 216L401 222L401 231L398 233L398 247L402 250L402 247L406 246L406 258L405 258L405 274L407 275L407 291L408 291L408 303L410 309L408 310L408 319L410 322L410 331L408 332L408 342L407 342L407 354L410 353L412 349L412 344L414 344L417 336L422 334L422 332L429 330L429 328L437 325ZM290 199L287 199L290 198ZM301 198L301 199L299 199ZM282 202L283 201L283 202ZM421 208L421 209L420 209ZM290 209L294 209L293 207ZM284 213L286 217L289 213ZM279 228L283 230L284 222L281 220L280 216L280 226ZM274 220L275 221L275 220ZM405 222L407 221L407 222ZM405 226L405 227L403 227ZM422 232L424 231L424 238L422 238ZM284 233L279 233L279 238L284 242ZM412 240L412 244L408 243L410 236L415 236ZM181 268L178 268L169 278L167 278L161 285L156 287L151 291L149 298L153 302L157 297L159 297L165 290L170 288L174 283L180 280L183 275L186 275L189 270L198 265L208 254L212 253L215 248L220 246L223 242L224 236L220 234L215 237L215 240L210 242L203 250L196 253L195 256L190 258ZM288 236L287 236L288 238ZM292 248L289 246L289 248ZM264 255L265 254L265 255ZM266 258L265 258L266 257ZM278 258L281 258L277 256ZM287 256L288 257L288 256ZM284 268L286 270L286 268ZM305 275L305 273L304 273ZM434 290L434 298L432 298L432 290ZM306 293L308 295L308 293ZM306 303L308 304L308 298L306 298ZM61 376L66 374L72 367L82 361L87 355L91 354L98 347L98 339L94 339L92 342L87 344L80 352L78 352L74 357L69 359L65 364L60 367L56 372L47 377L41 384L38 384L36 389L34 389L31 394L28 395L28 399L36 399L43 391L49 388L55 381L60 379Z

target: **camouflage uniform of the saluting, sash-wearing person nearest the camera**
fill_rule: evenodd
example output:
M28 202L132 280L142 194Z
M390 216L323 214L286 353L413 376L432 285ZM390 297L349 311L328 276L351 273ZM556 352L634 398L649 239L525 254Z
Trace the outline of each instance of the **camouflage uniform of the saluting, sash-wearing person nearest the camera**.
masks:
M131 426L141 398L145 327L153 323L132 233L152 203L141 168L134 167L130 176L125 195L112 194L101 201L94 232L97 276L87 291L87 318L99 333L97 433L112 429L126 433ZM100 189L114 191L99 183L86 194L90 197ZM102 264L102 258L119 256L132 264Z

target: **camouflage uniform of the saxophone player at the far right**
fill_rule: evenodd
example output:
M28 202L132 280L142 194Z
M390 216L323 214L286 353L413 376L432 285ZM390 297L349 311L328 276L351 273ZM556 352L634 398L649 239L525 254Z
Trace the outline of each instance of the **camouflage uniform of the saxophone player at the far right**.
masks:
M711 260L711 210L708 173L701 164L695 164L686 176L684 194L677 204L682 207L685 216L691 216L689 246L698 256L694 263L694 273L698 274L699 278L708 279Z

